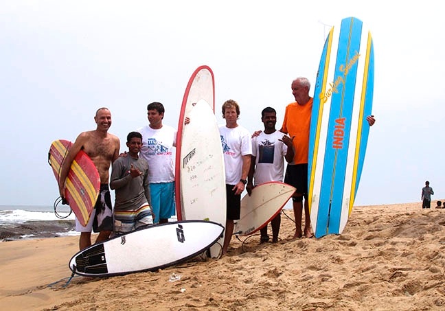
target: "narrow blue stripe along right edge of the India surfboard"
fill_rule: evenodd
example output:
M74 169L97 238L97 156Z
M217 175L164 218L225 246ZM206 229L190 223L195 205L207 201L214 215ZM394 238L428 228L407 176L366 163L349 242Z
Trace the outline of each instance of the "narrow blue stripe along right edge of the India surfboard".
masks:
M369 55L368 78L367 78L366 95L365 95L365 108L363 111L364 117L367 117L372 113L373 94L374 94L374 43L372 43L371 41L371 51ZM365 161L365 152L366 152L368 136L369 136L369 126L367 122L364 122L362 128L362 136L360 140L360 153L358 154L358 168L357 168L355 193L357 193L358 191L358 184L360 183L361 173L363 170L363 163Z

